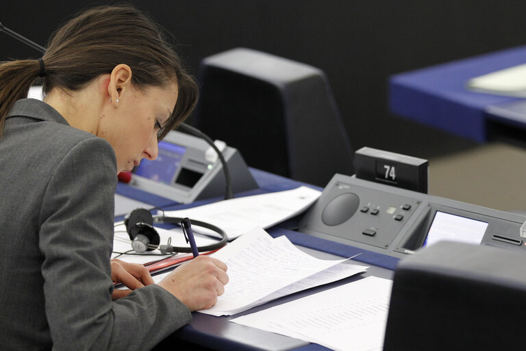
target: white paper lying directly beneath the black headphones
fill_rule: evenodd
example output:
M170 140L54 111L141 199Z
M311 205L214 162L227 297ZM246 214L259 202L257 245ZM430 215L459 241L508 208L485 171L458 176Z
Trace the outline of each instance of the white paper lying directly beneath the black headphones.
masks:
M154 227L159 233L160 243L165 245L168 243L168 239L171 239L171 245L175 247L190 247L190 244L186 243L184 239L183 231L180 228L174 228L167 230L164 228ZM112 258L118 258L119 260L129 263L145 263L158 261L162 258L166 258L168 255L162 255L159 249L145 252L144 254L136 254L132 249L132 241L129 240L129 235L126 232L124 223L116 223L113 237L113 253ZM203 235L195 234L195 242L198 246L212 245L217 243L217 239L205 237ZM121 254L123 252L129 252L129 254ZM183 257L186 253L178 254L177 256ZM192 256L192 254L188 254Z

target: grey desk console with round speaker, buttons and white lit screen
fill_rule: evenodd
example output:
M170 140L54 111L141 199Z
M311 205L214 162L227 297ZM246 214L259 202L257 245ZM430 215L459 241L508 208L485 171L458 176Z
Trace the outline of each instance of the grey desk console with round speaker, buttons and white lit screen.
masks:
M437 241L526 251L526 217L336 174L299 232L395 257Z

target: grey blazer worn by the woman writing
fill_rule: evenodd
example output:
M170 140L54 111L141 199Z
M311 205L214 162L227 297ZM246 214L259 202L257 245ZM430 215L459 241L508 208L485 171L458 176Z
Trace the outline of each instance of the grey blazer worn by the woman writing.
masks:
M112 301L116 160L36 99L0 137L0 340L7 350L149 350L188 323L151 285Z

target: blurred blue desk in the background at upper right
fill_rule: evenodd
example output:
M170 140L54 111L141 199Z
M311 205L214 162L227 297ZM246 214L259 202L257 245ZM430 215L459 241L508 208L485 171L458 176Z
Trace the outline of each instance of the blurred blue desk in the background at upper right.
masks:
M525 62L526 46L393 75L388 84L390 111L478 142L521 141L526 130L524 100L474 93L465 84Z

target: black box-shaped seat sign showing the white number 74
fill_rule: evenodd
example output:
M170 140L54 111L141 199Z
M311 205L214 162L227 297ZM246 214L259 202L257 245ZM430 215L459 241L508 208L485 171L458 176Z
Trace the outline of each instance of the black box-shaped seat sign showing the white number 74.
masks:
M427 193L429 162L394 152L362 147L354 153L357 178Z

